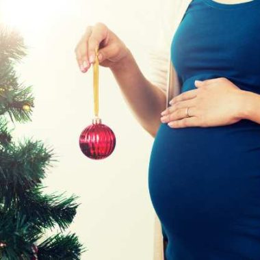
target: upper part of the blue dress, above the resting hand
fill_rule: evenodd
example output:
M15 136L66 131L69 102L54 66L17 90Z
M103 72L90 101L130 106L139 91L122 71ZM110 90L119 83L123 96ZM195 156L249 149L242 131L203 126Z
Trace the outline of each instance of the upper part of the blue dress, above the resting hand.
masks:
M195 79L226 77L239 88L260 94L259 2L190 3L171 45L182 92L196 88Z

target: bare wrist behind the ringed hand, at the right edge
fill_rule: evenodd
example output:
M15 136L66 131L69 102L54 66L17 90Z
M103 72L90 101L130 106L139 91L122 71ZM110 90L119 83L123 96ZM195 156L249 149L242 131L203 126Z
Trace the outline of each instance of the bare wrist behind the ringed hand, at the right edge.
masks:
M244 99L244 102L239 109L242 118L260 124L260 95L255 92L242 90L242 99Z

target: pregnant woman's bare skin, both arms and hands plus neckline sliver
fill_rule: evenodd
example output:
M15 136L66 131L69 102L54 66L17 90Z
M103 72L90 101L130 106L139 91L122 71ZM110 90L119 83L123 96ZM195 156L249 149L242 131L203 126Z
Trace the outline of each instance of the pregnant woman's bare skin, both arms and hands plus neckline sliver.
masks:
M82 73L94 63L96 46L99 46L99 65L112 71L133 115L153 138L161 122L177 128L210 127L246 118L260 124L260 113L256 113L260 111L260 95L240 90L224 77L194 82L197 89L175 96L165 109L166 93L144 77L131 51L103 23L88 26L75 47ZM189 118L187 107L190 107Z

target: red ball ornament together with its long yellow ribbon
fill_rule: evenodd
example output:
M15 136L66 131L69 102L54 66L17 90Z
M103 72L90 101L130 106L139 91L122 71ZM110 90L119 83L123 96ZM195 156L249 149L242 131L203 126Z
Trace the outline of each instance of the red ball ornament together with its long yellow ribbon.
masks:
M84 155L90 159L105 159L112 154L116 146L116 136L112 129L102 124L99 118L99 59L96 48L96 60L93 64L94 74L94 114L92 125L81 132L79 146Z

